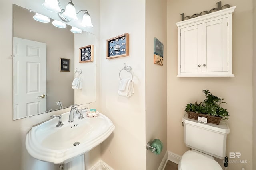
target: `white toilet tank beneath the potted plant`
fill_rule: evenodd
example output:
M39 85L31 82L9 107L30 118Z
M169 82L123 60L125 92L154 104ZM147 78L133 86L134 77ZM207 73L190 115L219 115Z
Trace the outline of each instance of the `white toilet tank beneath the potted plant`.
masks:
M189 119L187 113L185 113L182 121L184 125L184 143L187 147L224 159L227 135L230 132L225 121L220 121L219 125L200 123L197 120Z

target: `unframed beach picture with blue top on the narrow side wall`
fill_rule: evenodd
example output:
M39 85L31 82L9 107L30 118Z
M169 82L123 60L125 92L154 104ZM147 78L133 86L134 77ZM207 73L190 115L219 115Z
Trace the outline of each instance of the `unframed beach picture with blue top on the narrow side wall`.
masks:
M164 65L164 45L157 38L154 38L154 63Z

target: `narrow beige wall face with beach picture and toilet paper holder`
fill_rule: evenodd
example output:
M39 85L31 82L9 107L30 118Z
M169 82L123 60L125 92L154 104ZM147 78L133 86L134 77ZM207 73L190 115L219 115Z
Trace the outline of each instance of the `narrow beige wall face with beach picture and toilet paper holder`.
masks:
M146 170L157 170L167 150L166 0L146 1L146 141L160 139L160 155L146 150ZM153 63L154 37L164 44L164 65Z

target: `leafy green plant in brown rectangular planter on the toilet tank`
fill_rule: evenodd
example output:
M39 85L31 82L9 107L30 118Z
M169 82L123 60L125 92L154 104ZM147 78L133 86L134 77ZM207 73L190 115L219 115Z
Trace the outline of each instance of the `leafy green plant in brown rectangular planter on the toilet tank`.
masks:
M223 102L223 98L214 96L209 90L203 90L206 98L203 102L198 103L197 101L186 105L185 111L188 113L188 117L191 119L198 119L200 117L207 117L209 123L219 124L220 120L228 119L228 111L220 105Z

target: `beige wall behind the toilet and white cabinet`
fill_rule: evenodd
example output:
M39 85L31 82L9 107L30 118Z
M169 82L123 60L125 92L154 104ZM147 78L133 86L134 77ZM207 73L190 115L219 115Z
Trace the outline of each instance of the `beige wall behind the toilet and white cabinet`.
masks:
M236 6L233 13L233 78L178 78L178 28L180 14L192 16L216 6L214 0L168 0L168 151L182 155L186 150L183 142L182 116L187 103L203 100L203 89L224 98L223 107L230 112L230 134L227 137L226 154L241 152L245 164L230 163L229 169L242 167L252 170L252 0L224 0L222 5ZM199 5L200 4L200 5ZM220 164L222 161L218 160Z

